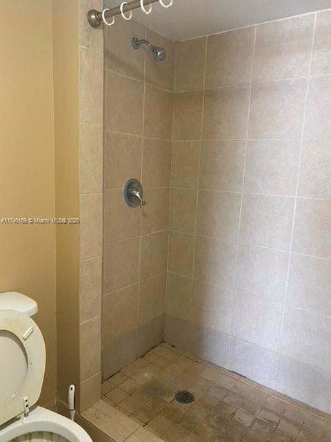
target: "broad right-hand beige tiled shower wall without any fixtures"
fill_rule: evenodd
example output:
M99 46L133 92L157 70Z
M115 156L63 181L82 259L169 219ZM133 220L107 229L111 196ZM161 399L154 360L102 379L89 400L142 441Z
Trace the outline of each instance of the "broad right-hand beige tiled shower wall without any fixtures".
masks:
M328 412L330 30L176 44L165 302L166 341Z

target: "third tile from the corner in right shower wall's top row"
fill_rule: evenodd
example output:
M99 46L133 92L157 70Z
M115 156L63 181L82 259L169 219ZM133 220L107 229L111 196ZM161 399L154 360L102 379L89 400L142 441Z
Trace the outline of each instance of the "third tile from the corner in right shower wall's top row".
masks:
M307 77L313 30L313 14L257 26L254 80Z

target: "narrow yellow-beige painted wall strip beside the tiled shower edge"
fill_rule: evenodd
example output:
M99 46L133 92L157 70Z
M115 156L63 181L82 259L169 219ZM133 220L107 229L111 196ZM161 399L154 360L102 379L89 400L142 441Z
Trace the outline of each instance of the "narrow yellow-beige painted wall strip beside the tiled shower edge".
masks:
M56 213L79 218L78 2L52 10ZM57 225L57 390L79 385L79 225ZM77 389L79 395L79 389Z

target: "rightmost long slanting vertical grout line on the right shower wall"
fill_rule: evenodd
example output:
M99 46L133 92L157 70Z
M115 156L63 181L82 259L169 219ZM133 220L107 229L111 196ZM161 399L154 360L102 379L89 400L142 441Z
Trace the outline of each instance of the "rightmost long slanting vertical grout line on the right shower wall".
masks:
M312 33L312 41L310 46L310 65L309 65L309 73L312 71L312 61L313 61L313 53L314 53L314 39L315 39L315 33L316 33L316 23L317 23L317 13L314 13L314 28ZM298 173L297 173L297 186L296 186L296 192L295 192L295 201L294 201L294 210L293 210L293 216L292 216L292 230L291 230L291 238L290 238L290 255L288 257L288 270L286 274L286 283L285 283L285 291L284 291L284 298L283 298L283 318L281 321L281 333L279 336L279 339L283 336L283 329L284 329L284 323L285 323L285 306L287 305L287 298L288 298L288 284L290 280L290 267L291 267L291 256L292 256L292 247L293 247L293 238L294 238L294 228L295 228L295 220L297 217L297 202L298 202L298 194L299 194L299 182L300 182L300 172L301 172L301 159L302 159L302 148L303 148L303 137L305 134L305 124L307 119L307 108L308 108L308 98L309 98L309 92L310 92L310 79L307 79L306 84L306 90L305 90L305 97L304 97L304 111L303 111L303 122L302 122L302 128L301 128L301 144L300 144L300 152L299 152L299 167L298 167ZM278 346L277 346L278 347ZM278 348L277 348L278 350ZM278 378L279 373L279 365L277 367L277 374L276 374L276 381Z

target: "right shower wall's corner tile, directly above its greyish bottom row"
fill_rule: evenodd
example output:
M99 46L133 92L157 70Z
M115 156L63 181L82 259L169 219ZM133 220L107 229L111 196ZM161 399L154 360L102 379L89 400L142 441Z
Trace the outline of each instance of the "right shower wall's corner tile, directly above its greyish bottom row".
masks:
M166 313L183 320L189 320L191 299L192 279L169 271L165 298Z

